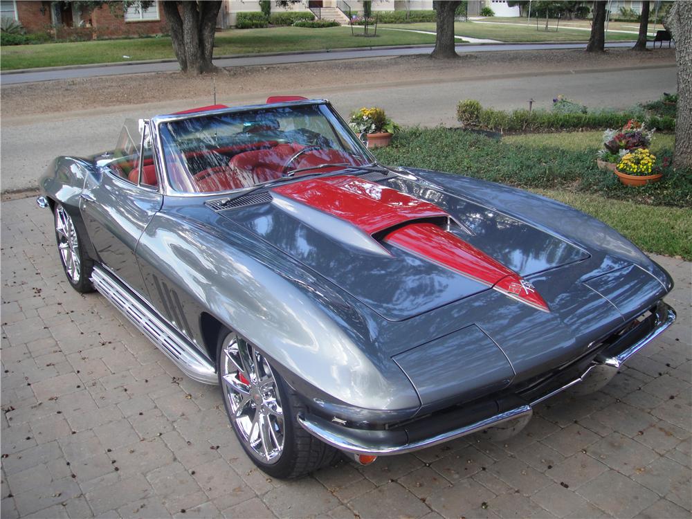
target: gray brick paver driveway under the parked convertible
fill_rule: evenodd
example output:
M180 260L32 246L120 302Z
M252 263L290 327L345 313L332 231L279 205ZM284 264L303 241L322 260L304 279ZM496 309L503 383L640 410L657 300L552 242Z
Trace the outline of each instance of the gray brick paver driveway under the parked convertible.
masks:
M597 394L484 435L299 481L253 468L217 388L64 280L51 214L2 204L2 517L689 517L691 264L675 326ZM439 514L439 515L438 515Z

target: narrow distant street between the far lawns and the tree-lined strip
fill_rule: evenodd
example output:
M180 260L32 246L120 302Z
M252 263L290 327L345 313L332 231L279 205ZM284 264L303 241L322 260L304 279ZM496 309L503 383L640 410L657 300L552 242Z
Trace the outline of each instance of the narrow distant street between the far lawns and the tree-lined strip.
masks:
M606 44L608 48L630 47L632 42ZM584 48L585 44L504 44L504 45L457 45L459 53L478 53L489 51L547 51L551 49ZM431 46L410 48L370 48L367 50L318 51L314 53L286 53L280 55L258 55L240 57L221 57L214 60L219 67L276 65L284 63L303 63L331 60L352 60L363 57L411 56L430 54ZM100 75L138 74L148 72L173 72L179 70L175 61L140 62L136 64L111 64L107 66L78 66L55 68L52 70L27 69L26 72L6 72L0 75L2 84L19 84L36 81L64 80L73 78L93 78Z

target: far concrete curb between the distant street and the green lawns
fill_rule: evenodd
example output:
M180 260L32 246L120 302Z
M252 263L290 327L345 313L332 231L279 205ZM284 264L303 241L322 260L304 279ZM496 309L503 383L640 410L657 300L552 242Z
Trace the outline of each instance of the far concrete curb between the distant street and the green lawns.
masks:
M608 43L634 43L635 40L632 40L631 42L628 40L618 40L617 42L605 42L606 45ZM472 43L459 43L456 44L455 47L463 47L463 46L500 46L500 45L579 45L579 44L584 44L586 45L586 42L502 42L502 43L481 43L481 44L472 44ZM320 49L320 50L314 50L314 51L286 51L286 52L281 52L281 53L248 53L248 54L229 54L229 55L224 55L224 56L215 56L214 60L234 60L237 58L245 58L245 57L271 57L271 56L293 56L293 55L310 55L310 54L328 54L328 53L339 53L339 52L358 52L358 51L388 51L391 49L397 49L397 48L434 48L434 44L421 44L421 45L385 45L385 46L370 46L370 47L346 47L346 48L325 48L325 49ZM26 74L26 73L34 73L34 72L51 72L51 71L68 71L68 70L79 70L79 69L100 69L102 67L109 67L109 66L127 66L127 65L146 65L146 64L156 64L156 63L174 63L176 60L174 59L161 59L161 60L137 60L137 61L127 61L127 62L112 62L112 63L89 63L89 64L84 64L84 65L64 65L64 66L43 66L43 67L38 67L35 69L16 69L12 71L3 71L0 73L0 77L4 75L15 75L15 74Z

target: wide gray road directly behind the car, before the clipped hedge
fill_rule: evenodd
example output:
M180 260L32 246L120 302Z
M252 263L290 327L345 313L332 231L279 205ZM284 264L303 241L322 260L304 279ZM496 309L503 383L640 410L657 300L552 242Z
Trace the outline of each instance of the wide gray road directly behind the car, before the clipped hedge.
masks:
M493 46L493 48L496 48ZM629 89L628 85L636 85ZM479 100L498 109L548 107L557 94L588 106L626 108L675 91L675 66L588 72L565 71L546 75L512 75L439 82L429 80L347 85L333 88L292 86L283 92L255 92L220 98L225 104L264 102L267 94L293 93L328 98L347 115L363 104L379 106L401 125L458 125L455 107L462 99ZM411 100L416 100L411 102ZM1 189L34 188L40 174L57 155L86 155L110 149L125 118L141 118L210 104L209 98L157 102L46 116L5 117L1 134Z

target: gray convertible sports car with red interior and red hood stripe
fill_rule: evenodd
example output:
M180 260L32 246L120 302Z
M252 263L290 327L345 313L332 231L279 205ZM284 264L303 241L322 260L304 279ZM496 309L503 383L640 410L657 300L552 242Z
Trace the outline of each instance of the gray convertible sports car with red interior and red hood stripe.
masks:
M218 384L273 477L516 432L675 320L671 277L612 228L380 165L325 100L127 122L40 187L71 285Z

